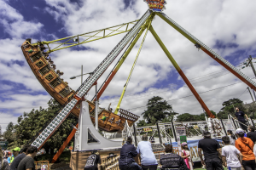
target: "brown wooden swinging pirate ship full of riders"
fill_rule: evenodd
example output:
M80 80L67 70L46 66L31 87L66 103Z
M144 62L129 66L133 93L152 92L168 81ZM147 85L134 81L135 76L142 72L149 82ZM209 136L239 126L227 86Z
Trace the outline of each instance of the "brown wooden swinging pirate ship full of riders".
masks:
M32 45L31 39L26 39L22 43L21 49L34 75L55 100L61 105L65 105L67 101L73 99L76 92L68 86L68 82L64 82L61 79L63 72L55 71L55 65L49 58L49 54L44 53L44 44ZM86 101L90 107L90 119L95 123L95 104L89 100ZM110 133L121 132L125 127L126 120L131 126L139 118L139 116L123 109L119 109L119 115L104 108L99 108L98 110L98 127ZM79 117L79 113L80 105L76 105L72 110L72 114Z

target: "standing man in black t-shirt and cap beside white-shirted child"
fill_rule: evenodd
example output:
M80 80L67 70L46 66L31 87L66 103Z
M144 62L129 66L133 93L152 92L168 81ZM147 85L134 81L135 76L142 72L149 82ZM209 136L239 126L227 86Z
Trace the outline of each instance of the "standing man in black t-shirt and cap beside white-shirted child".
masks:
M211 138L211 133L203 132L204 139L198 142L198 155L201 159L201 164L206 165L207 170L224 170L222 162L218 157L220 153L220 145L217 140ZM205 160L202 159L201 150L203 150Z

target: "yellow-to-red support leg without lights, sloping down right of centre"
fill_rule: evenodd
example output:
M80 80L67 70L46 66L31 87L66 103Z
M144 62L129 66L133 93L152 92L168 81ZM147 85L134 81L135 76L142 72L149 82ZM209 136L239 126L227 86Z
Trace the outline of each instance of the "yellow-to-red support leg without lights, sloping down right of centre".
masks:
M170 54L170 52L166 48L165 44L160 40L160 37L158 37L158 35L156 34L156 32L154 31L152 26L150 26L149 31L151 31L151 33L154 36L155 40L159 43L160 47L166 53L168 59L170 59L170 61L172 62L172 65L175 67L175 69L177 70L179 75L183 78L183 81L187 84L187 86L189 87L190 91L195 95L195 98L198 100L198 102L201 104L201 106L204 108L204 110L207 111L207 115L212 117L212 118L214 118L215 116L212 115L212 112L208 109L208 107L205 104L205 102L201 99L200 95L197 94L197 92L195 91L195 88L189 82L189 79L184 75L184 73L181 70L181 68L177 65L177 62L175 61L175 59L173 59L172 55Z

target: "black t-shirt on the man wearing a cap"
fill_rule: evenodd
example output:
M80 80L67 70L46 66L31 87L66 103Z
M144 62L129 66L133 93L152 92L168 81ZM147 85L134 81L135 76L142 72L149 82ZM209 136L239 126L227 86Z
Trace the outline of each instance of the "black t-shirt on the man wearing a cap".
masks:
M205 160L211 160L218 158L218 150L220 145L217 140L214 139L201 139L198 142L198 148L204 151Z

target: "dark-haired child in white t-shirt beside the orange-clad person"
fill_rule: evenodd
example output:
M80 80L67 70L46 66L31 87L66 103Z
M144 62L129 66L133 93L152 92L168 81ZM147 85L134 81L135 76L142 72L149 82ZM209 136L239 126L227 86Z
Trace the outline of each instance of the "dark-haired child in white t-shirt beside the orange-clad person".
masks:
M230 138L228 136L222 137L222 141L225 144L221 153L224 167L232 170L241 170L241 152L235 146L230 145ZM238 160L237 155L239 155L240 160Z

